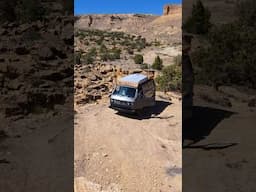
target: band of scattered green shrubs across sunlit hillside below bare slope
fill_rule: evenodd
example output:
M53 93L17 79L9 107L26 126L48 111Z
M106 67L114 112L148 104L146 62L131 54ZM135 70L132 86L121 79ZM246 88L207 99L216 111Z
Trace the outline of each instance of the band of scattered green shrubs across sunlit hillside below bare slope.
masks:
M145 38L125 34L123 32L109 32L101 30L78 30L75 32L75 37L78 38L84 45L93 45L96 49L94 58L98 57L101 61L114 61L121 59L122 51L127 51L133 55L134 51L141 51L147 45ZM86 60L91 61L91 54L86 54ZM95 60L95 59L94 59ZM136 59L137 60L137 59ZM143 60L138 64L142 64Z

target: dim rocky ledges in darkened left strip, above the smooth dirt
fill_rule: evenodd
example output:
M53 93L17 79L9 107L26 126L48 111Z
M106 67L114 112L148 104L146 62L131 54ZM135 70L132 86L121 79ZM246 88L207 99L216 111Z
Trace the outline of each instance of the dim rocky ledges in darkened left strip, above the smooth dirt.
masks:
M5 117L50 111L71 100L73 18L45 19L0 25L0 112Z

